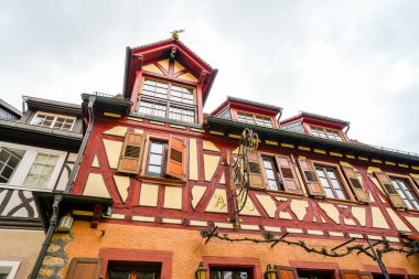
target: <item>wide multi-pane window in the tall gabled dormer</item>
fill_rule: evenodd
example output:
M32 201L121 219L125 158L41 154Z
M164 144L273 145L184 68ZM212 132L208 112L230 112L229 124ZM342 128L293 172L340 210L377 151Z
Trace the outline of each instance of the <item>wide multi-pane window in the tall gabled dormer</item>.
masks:
M191 87L146 79L138 111L143 115L195 122L195 98Z

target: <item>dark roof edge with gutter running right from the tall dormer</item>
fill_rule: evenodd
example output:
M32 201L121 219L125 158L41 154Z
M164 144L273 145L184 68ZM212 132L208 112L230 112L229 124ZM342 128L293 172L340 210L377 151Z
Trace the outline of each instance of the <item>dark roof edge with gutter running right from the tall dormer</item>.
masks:
M240 129L249 127L248 124L236 122L236 121L232 121L232 120L219 118L219 117L213 117L213 116L208 116L206 120L210 126L214 125L217 127L224 127L224 129L228 127L240 128ZM297 141L318 143L318 144L326 146L335 150L336 149L345 150L346 152L350 152L350 153L354 153L357 151L357 152L365 152L365 153L379 155L379 157L384 155L394 160L404 160L404 161L419 163L419 155L413 154L413 153L411 154L401 153L401 152L391 151L385 148L376 148L372 146L364 146L364 144L361 146L361 144L350 143L350 142L332 141L332 140L316 138L316 137L312 137L312 136L308 136L303 133L298 133L298 132L292 132L292 131L287 131L287 130L278 130L278 129L272 129L272 128L265 128L265 127L259 127L259 126L251 126L251 128L257 132L267 133L267 135L278 137L281 139L290 139L290 140L297 140Z

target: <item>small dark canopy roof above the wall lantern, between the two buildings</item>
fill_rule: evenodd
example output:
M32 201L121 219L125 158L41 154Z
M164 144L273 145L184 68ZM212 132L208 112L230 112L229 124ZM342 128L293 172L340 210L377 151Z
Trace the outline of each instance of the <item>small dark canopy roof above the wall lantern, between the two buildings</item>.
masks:
M55 195L62 195L63 198L60 202L60 217L64 216L71 211L82 210L82 211L94 211L96 204L100 204L103 208L114 204L112 198L98 197L98 196L86 196L86 195L74 195L74 194L64 194L64 193L54 193L54 192L32 192L33 200L42 222L44 232L50 227L50 218L53 214L52 205L54 203Z

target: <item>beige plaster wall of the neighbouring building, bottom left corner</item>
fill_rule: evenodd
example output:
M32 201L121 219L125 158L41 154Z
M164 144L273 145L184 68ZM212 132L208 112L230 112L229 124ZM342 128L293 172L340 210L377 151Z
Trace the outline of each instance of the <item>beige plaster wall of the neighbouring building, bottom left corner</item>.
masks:
M44 238L43 230L0 229L0 260L20 261L15 278L28 278Z

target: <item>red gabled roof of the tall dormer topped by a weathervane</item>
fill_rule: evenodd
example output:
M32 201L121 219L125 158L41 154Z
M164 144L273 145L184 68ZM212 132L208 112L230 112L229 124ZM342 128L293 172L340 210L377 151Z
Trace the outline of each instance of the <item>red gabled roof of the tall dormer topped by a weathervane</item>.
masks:
M164 58L174 58L200 81L198 83L203 88L203 103L205 104L218 71L210 66L208 63L196 55L196 53L191 51L191 49L181 41L174 39L163 40L132 49L129 46L127 47L123 97L131 98L136 81L136 72L140 71L142 65Z

